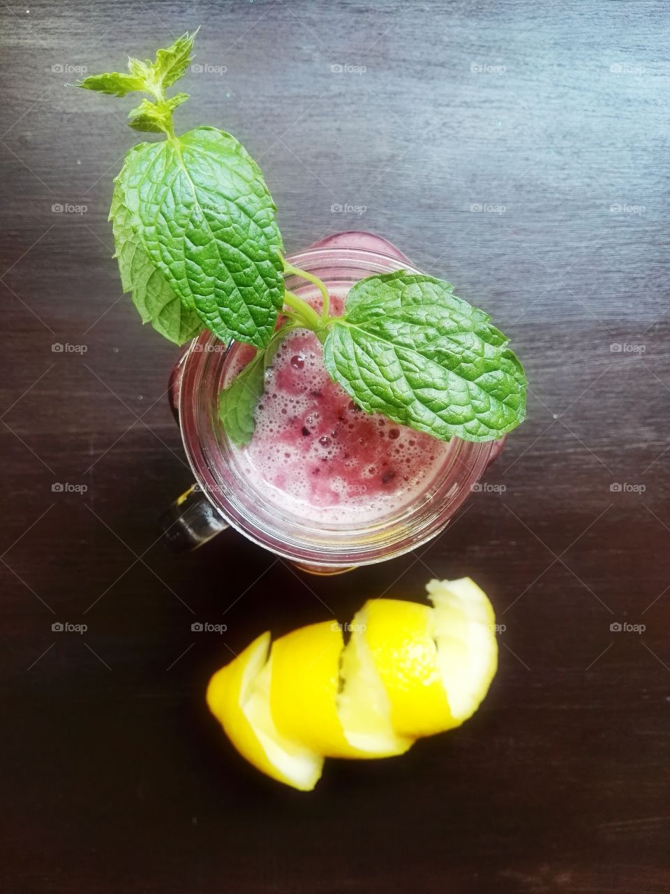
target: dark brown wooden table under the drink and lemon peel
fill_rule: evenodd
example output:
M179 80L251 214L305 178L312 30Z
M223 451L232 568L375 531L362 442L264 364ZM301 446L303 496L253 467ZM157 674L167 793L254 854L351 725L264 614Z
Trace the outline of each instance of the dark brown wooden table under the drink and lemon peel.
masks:
M2 890L670 890L666 4L7 0L2 18ZM182 557L155 541L190 477L176 350L111 259L131 102L63 83L198 23L180 127L243 140L287 248L387 236L487 308L529 374L499 486L347 578L232 535ZM331 762L308 796L247 768L203 701L228 646L322 603L348 620L366 596L420 598L433 574L472 575L505 625L473 720L402 760Z

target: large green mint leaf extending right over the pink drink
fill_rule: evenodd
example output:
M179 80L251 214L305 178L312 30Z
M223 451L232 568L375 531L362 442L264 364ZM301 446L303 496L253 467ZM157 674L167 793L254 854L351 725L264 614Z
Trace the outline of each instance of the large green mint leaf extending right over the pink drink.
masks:
M323 346L333 380L369 413L443 441L491 441L523 421L526 381L489 316L404 271L356 283Z

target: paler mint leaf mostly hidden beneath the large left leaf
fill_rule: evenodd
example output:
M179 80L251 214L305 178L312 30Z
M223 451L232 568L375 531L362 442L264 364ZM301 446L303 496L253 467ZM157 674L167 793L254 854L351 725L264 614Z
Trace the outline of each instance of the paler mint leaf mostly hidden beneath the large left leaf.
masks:
M181 307L179 296L175 295L163 274L149 260L133 232L130 216L117 182L110 220L116 246L114 257L118 259L121 273L121 287L123 291L130 291L142 323L151 323L157 332L171 342L184 344L202 331L202 321L195 311Z

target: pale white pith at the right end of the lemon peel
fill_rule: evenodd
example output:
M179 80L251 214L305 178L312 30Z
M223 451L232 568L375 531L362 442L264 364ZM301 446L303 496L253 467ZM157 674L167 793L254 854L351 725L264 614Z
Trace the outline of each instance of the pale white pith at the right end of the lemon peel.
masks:
M458 725L472 717L498 668L495 615L488 596L470 578L431 580L433 634L451 712Z

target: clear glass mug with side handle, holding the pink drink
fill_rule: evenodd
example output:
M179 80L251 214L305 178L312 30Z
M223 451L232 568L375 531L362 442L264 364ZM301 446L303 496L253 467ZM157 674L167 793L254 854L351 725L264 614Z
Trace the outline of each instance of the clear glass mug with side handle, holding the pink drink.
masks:
M339 292L372 274L403 269L420 273L389 241L366 232L338 233L288 260ZM312 283L296 276L287 276L286 287L305 299L315 294ZM230 345L205 330L183 350L172 370L170 402L196 479L161 519L175 551L194 549L233 528L315 574L338 574L392 559L440 534L502 448L504 439L470 443L452 438L439 474L395 515L356 527L298 518L263 501L233 460L217 414L228 350Z

